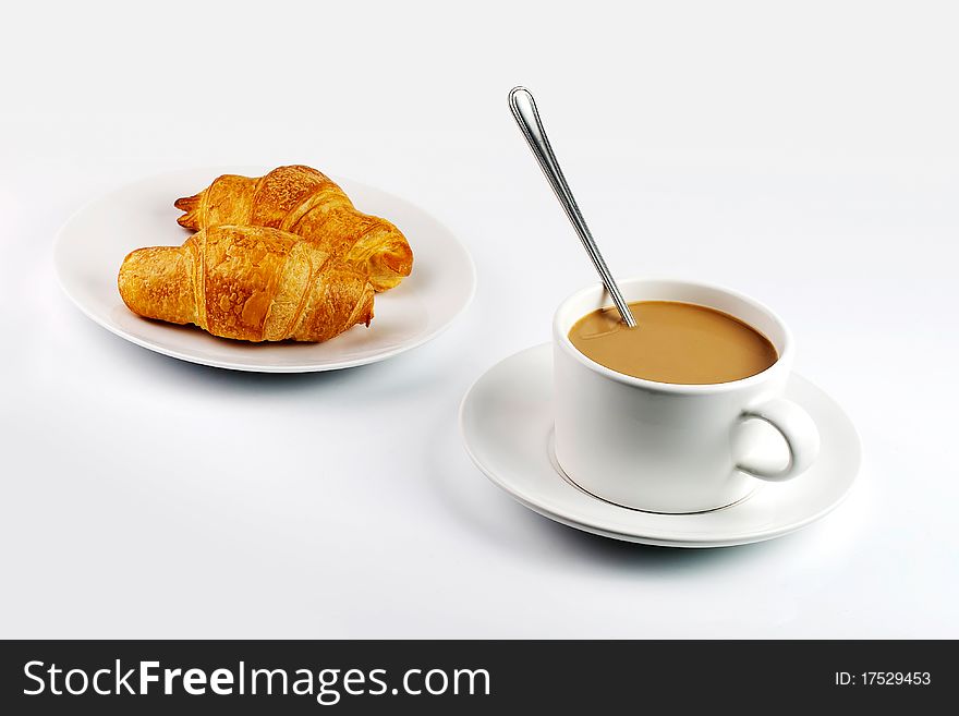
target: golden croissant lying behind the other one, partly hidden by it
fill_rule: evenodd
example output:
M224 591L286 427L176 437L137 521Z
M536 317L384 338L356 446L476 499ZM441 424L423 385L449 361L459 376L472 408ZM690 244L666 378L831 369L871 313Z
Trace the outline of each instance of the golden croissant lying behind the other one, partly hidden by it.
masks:
M360 267L377 291L393 288L413 267L399 229L357 211L343 190L309 167L280 167L258 178L224 174L174 205L185 211L178 222L187 229L231 223L295 233Z

